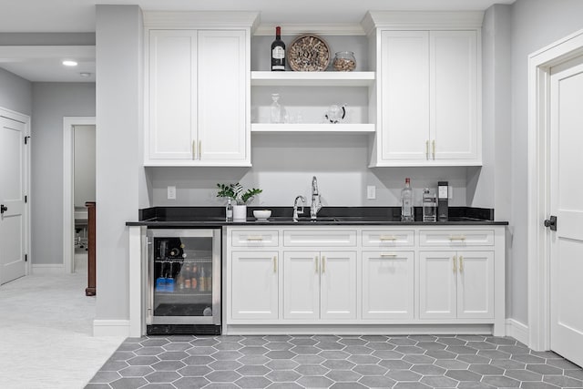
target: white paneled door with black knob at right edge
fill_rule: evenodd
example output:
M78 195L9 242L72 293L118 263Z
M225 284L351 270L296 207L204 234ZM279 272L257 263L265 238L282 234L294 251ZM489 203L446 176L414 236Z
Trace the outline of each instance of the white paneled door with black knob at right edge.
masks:
M551 69L551 349L583 366L583 56Z

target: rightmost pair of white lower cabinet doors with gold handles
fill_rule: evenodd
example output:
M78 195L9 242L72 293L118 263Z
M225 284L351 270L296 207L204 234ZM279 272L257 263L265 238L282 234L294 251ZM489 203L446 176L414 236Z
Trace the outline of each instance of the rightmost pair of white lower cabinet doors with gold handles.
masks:
M420 251L419 318L494 318L494 252Z

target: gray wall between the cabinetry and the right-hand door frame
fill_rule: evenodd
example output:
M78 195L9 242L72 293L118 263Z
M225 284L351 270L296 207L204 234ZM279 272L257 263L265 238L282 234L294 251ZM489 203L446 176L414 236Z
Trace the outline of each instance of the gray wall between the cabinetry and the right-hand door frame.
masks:
M517 0L512 8L512 164L507 176L513 205L510 317L527 323L528 55L583 29L583 2Z

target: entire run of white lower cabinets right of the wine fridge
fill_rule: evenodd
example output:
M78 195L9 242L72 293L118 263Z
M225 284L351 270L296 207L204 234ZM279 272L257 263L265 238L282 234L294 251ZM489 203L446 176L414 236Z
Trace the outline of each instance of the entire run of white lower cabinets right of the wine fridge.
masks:
M226 333L505 335L504 226L250 225L224 236Z

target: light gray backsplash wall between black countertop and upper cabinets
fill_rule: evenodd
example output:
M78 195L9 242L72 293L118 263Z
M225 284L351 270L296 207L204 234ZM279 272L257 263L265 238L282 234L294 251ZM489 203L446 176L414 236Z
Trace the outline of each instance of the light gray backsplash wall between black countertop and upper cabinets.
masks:
M292 207L298 195L310 199L314 175L324 206L397 206L405 177L416 205L439 180L454 186L452 205L465 205L465 168L368 169L367 135L253 134L251 156L251 169L150 168L153 205L222 205L217 183L240 181L263 189L251 205ZM376 200L366 199L368 185L376 187ZM167 199L168 186L177 187L176 200Z

